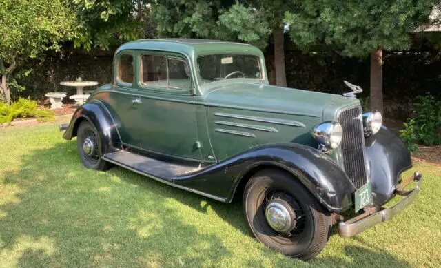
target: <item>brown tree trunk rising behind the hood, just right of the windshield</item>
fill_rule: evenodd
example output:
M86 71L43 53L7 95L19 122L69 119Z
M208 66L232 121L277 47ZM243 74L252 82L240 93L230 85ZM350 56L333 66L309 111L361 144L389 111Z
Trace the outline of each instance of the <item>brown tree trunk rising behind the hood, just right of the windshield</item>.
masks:
M274 37L274 67L276 69L276 85L279 87L287 86L285 74L285 41L283 39L283 27L273 30Z

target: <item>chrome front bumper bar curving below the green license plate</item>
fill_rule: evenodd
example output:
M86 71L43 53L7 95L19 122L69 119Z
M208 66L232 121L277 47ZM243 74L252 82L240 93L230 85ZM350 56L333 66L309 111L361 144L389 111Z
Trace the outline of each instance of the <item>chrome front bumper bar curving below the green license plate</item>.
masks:
M343 237L355 236L356 234L360 234L362 231L373 227L373 225L390 220L401 212L402 209L405 209L411 205L416 196L418 196L418 192L420 192L420 181L418 181L416 184L415 189L400 200L400 202L396 203L392 207L389 207L389 209L378 208L380 209L378 212L371 214L366 218L362 218L361 220L356 220L356 218L358 218L356 217L345 222L340 222L338 224L338 234Z

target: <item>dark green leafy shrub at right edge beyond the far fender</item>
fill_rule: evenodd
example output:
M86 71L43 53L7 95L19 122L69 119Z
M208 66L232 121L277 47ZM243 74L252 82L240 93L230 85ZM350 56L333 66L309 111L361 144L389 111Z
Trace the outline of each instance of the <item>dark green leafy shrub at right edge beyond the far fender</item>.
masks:
M414 149L415 143L424 145L441 144L441 103L427 93L417 96L418 103L413 104L414 118L404 123L404 130L400 131L400 137L409 147ZM413 145L411 145L413 144ZM416 147L416 145L415 145Z

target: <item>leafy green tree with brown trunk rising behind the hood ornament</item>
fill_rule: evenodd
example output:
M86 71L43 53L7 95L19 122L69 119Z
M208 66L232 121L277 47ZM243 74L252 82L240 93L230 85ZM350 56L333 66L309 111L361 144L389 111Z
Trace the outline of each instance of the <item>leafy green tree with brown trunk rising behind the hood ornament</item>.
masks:
M285 14L302 50L331 48L345 56L371 55L371 106L382 111L382 50L405 50L439 1L293 0Z

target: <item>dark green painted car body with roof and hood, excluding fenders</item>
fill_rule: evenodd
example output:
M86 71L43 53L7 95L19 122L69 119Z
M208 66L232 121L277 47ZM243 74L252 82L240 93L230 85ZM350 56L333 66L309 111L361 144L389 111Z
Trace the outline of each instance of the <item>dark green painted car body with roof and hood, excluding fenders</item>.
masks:
M219 51L258 56L263 79L201 84L196 58ZM90 98L114 103L108 109L118 111L112 113L112 118L121 125L119 134L123 143L166 156L210 163L267 143L316 146L309 134L314 125L336 120L339 110L360 105L358 99L269 85L263 53L251 45L135 41L122 45L115 53L114 62L119 61L121 54L134 55L134 80L139 81L139 59L145 52L185 59L192 70L192 87L183 91L144 87L141 83L127 85L115 77L114 85L99 88ZM114 68L117 73L116 64ZM134 98L142 104L132 104ZM234 116L250 119L243 123ZM140 122L151 127L146 130ZM196 142L200 147L195 149ZM338 154L336 150L332 157L337 160Z

